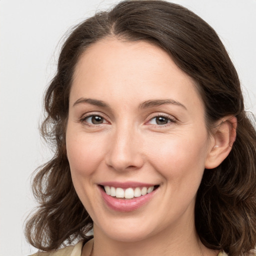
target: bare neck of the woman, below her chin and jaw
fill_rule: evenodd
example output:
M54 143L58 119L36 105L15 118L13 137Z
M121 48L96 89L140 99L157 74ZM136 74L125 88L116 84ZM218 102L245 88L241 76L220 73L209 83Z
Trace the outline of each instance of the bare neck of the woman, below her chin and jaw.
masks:
M180 227L179 227L180 228ZM178 228L178 229L179 229ZM93 256L216 256L217 251L206 248L196 234L192 221L190 228L170 233L169 228L139 241L111 239L94 225Z

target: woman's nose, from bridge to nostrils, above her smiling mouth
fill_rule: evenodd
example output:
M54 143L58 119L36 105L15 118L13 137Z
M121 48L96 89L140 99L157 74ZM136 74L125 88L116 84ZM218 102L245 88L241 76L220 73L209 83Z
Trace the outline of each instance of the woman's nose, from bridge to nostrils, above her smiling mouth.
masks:
M111 136L106 164L117 170L139 169L144 163L142 139L130 126L116 128Z

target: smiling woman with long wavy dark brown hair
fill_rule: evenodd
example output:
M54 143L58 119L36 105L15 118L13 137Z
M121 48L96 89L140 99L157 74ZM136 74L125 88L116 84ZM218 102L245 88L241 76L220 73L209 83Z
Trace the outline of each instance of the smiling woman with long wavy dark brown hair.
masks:
M197 15L158 0L95 14L65 41L44 103L41 131L56 153L34 177L33 246L53 253L80 240L49 255L82 256L252 251L256 132L224 46Z

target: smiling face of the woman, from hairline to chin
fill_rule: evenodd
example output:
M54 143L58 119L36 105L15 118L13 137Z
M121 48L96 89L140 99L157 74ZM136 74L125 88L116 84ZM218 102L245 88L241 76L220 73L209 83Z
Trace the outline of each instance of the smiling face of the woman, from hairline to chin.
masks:
M81 55L73 78L66 150L94 235L190 230L212 147L193 80L157 46L112 38Z

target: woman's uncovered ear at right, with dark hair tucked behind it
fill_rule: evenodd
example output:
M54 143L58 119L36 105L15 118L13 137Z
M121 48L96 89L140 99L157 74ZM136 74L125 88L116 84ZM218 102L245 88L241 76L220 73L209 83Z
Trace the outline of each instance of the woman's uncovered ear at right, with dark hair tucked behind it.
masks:
M229 154L236 137L237 119L234 116L225 116L218 121L212 130L209 152L204 167L212 169L217 167Z

